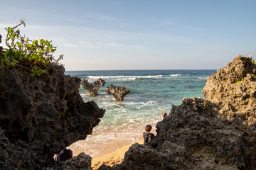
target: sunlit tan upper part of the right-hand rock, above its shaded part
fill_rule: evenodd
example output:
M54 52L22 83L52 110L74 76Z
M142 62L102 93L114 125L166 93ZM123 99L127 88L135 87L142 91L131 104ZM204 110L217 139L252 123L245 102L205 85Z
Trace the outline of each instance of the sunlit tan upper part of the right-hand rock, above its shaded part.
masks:
M218 103L218 116L244 125L255 124L256 64L252 57L236 56L227 67L208 77L202 94ZM241 81L243 80L243 81Z

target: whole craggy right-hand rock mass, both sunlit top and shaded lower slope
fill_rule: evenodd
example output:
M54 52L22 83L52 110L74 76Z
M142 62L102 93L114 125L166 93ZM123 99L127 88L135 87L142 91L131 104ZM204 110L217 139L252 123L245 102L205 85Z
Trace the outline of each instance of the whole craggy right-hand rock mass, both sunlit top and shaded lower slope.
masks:
M151 142L99 169L255 169L255 66L251 57L235 57L208 77L206 99L183 98L157 123Z

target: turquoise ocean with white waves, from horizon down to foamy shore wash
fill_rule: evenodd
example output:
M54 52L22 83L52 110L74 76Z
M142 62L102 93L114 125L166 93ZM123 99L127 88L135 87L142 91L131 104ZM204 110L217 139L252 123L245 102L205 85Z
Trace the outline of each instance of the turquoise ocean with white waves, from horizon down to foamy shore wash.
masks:
M85 152L92 157L100 157L114 152L124 145L142 139L145 125L155 125L161 121L161 112L170 113L171 106L178 106L184 97L201 97L207 77L216 70L114 70L114 71L66 71L66 75L87 79L93 83L99 78L106 81L92 97L80 86L80 95L85 102L95 101L106 110L105 115L92 135L86 140L70 146L73 154ZM124 86L131 90L124 101L117 102L105 93L107 86ZM155 133L156 134L156 133Z

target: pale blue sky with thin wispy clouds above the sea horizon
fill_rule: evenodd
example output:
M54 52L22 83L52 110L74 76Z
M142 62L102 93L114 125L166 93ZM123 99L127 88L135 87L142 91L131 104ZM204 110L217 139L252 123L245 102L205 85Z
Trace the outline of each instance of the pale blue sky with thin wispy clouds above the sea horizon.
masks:
M253 0L2 0L0 34L25 18L21 33L53 40L66 70L220 69L235 55L255 58L255 8Z

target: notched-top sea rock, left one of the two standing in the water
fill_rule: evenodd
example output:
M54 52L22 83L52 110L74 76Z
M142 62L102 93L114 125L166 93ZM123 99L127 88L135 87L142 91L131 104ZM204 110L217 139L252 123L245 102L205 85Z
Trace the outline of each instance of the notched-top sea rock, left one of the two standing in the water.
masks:
M88 83L87 79L82 80L82 88L87 90L90 96L97 96L97 91L100 89L100 86L105 85L104 79L97 79L93 84Z

